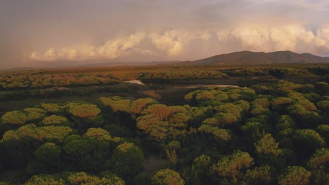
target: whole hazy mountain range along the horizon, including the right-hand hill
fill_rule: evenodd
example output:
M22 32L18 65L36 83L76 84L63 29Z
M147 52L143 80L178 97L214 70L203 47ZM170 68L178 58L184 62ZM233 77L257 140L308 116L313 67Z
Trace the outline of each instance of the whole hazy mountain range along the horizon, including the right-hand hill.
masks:
M45 62L39 62L45 64ZM58 61L53 66L20 67L7 70L30 70L45 68L75 68L75 67L117 67L117 66L156 66L156 65L240 65L240 64L281 64L281 63L329 63L329 57L320 57L310 53L293 53L292 51L276 51L271 53L240 51L228 54L214 55L194 61L154 61L154 62L106 62L85 61L84 64L71 64ZM3 69L6 70L6 69Z

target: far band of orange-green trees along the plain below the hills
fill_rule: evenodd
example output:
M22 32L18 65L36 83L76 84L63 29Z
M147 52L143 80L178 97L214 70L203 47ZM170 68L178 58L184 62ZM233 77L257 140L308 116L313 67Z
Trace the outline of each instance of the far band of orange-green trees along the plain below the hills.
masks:
M0 90L27 90L52 87L107 85L118 81L173 82L228 77L273 76L275 78L321 78L329 81L329 67L322 64L291 64L243 67L156 66L103 67L78 69L36 69L0 72Z

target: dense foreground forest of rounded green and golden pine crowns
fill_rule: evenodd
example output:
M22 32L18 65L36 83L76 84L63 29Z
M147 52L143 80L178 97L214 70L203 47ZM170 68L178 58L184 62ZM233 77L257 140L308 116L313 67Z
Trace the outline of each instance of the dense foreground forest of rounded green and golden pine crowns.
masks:
M7 112L0 184L328 183L328 83L204 88L185 100L102 97ZM166 162L150 168L152 156Z

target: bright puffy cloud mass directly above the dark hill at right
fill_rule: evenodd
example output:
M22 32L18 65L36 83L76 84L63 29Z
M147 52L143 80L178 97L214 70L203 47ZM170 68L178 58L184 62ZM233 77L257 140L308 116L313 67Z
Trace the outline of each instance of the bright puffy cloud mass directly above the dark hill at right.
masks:
M329 53L329 29L310 30L302 25L237 27L217 32L221 43L236 43L243 50L292 50L297 53Z

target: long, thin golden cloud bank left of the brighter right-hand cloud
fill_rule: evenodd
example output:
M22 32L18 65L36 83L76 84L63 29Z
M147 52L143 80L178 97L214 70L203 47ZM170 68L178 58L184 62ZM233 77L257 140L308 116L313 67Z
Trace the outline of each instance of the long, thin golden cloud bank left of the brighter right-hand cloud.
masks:
M180 55L186 45L195 39L207 41L211 37L209 32L183 32L179 30L168 30L163 34L147 34L143 32L136 32L129 36L117 39L110 39L103 45L93 46L72 46L70 48L49 48L44 52L33 51L30 54L30 59L35 61L49 61L56 60L93 60L93 59L115 59L127 55L148 55L157 56L155 50L148 48L140 48L140 43L143 41L150 41L153 46L149 48L156 48L158 51L164 51L170 56Z

